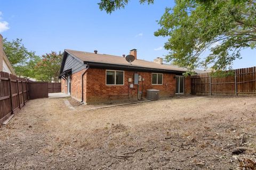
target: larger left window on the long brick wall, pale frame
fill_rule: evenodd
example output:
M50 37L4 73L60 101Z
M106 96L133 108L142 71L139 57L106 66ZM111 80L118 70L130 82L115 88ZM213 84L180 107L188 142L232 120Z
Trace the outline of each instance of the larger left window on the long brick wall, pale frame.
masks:
M106 85L124 85L124 71L106 70Z

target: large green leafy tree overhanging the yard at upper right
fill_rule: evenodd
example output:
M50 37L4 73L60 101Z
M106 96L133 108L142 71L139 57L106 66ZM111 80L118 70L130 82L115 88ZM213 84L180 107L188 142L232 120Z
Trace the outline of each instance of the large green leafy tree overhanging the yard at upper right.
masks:
M99 7L108 13L123 8L129 0L101 0ZM153 3L153 1L140 1ZM231 69L244 48L256 45L255 0L176 0L158 21L155 36L168 37L167 61L192 72L196 67L214 71ZM202 58L205 50L210 55Z

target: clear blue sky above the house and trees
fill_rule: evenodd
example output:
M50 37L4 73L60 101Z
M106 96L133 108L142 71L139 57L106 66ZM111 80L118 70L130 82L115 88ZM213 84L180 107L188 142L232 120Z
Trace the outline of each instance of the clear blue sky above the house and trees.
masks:
M157 20L174 1L157 0L141 5L131 0L111 14L100 11L95 0L0 0L0 33L7 40L21 38L37 55L64 49L122 56L131 49L138 58L153 61L168 51L167 37L155 37ZM207 55L207 52L204 54ZM256 50L244 49L234 69L256 66Z

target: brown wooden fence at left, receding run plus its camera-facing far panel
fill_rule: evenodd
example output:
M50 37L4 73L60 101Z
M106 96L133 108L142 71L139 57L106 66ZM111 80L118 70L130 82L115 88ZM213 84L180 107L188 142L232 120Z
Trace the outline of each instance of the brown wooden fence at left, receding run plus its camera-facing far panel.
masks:
M48 97L48 82L28 81L0 72L0 124L14 114L29 99Z

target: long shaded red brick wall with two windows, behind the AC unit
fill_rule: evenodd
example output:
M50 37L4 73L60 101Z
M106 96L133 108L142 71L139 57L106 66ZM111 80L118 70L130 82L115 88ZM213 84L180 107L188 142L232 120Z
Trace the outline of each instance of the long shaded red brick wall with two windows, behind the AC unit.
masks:
M175 79L174 74L163 74L163 85L151 84L151 73L124 71L124 85L106 85L106 70L89 69L86 72L86 103L98 101L114 100L114 99L137 99L138 85L134 85L133 89L129 88L128 78L134 77L134 73L138 73L144 78L144 81L139 81L139 91L142 90L143 83L143 98L146 97L147 89L160 90L160 97L170 97L175 94ZM128 96L129 90L129 96Z

